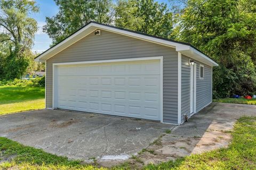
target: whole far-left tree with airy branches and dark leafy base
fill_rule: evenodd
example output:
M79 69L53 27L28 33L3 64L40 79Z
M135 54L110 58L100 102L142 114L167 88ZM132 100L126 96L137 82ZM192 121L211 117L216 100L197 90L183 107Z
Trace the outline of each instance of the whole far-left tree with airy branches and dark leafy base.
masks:
M0 1L0 79L20 78L29 65L37 22L28 17L38 12L34 1Z

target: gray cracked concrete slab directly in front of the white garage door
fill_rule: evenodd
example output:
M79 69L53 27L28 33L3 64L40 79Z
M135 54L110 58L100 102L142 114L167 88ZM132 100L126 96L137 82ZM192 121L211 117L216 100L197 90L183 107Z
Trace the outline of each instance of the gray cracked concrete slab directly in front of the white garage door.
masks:
M60 110L0 116L0 136L52 154L122 160L149 146L174 125Z

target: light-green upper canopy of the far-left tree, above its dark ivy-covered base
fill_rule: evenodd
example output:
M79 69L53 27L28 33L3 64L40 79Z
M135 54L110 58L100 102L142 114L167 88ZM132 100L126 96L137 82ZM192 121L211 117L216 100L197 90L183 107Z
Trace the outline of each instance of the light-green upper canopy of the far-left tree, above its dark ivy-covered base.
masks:
M0 42L9 46L14 56L31 48L37 22L29 18L28 14L38 12L34 1L29 0L1 0L0 2Z

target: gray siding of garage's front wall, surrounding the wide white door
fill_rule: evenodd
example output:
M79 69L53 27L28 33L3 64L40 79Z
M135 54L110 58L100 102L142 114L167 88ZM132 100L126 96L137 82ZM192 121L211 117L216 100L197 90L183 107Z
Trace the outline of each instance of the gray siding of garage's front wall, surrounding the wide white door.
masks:
M49 58L46 64L46 107L52 108L53 63L115 60L121 58L163 56L163 117L166 123L178 123L178 53L174 48L149 43L101 30Z

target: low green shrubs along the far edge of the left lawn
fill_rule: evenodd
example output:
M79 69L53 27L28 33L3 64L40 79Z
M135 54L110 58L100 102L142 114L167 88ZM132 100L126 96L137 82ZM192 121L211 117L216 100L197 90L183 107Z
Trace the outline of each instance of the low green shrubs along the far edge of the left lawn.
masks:
M3 80L0 81L0 86L19 86L19 87L44 87L45 76L37 77L29 80L14 79L14 80Z

